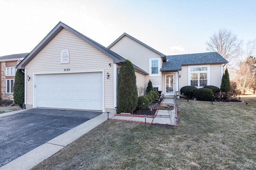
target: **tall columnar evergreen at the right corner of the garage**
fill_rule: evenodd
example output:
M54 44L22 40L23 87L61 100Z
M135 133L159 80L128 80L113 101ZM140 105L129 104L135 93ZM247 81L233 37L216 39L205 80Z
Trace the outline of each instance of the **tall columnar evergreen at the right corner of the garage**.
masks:
M138 92L134 67L126 60L119 70L117 107L120 113L133 113L138 103Z

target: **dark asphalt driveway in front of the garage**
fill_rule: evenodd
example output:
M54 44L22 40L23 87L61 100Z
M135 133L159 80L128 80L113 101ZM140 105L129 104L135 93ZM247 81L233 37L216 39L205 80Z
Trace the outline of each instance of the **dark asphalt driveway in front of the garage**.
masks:
M0 166L100 114L35 108L0 117Z

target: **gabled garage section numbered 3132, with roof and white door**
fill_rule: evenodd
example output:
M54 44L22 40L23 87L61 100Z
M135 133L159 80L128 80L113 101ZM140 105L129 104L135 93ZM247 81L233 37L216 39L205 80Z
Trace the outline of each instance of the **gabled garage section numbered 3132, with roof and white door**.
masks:
M18 65L26 108L114 112L117 72L125 59L68 25L58 25ZM148 73L134 65L138 77ZM143 78L142 78L143 79ZM144 84L144 80L138 81Z

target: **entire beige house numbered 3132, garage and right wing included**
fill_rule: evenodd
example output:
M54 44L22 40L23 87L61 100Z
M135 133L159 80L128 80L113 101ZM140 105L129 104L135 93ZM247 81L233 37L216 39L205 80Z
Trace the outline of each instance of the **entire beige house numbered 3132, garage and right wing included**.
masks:
M166 56L124 33L104 47L59 22L17 65L25 73L26 108L48 107L115 112L118 69L128 59L136 84L174 95L183 86L220 87L218 53Z

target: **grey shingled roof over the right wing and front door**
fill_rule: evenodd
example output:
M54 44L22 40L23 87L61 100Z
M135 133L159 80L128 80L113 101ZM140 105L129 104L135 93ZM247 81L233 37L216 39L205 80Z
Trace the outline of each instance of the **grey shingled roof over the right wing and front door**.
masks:
M163 63L161 71L181 70L182 65L198 64L223 64L228 63L221 55L216 52L197 53L184 55L168 55L166 62Z

